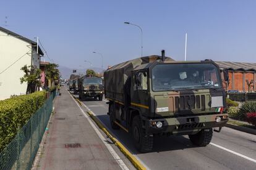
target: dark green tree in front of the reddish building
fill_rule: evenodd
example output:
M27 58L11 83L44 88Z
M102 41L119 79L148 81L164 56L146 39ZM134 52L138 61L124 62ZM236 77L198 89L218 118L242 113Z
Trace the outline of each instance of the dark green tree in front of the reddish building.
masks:
M59 70L57 67L59 67L59 65L56 63L49 63L45 66L45 76L49 81L49 87L52 86L55 80L59 79Z

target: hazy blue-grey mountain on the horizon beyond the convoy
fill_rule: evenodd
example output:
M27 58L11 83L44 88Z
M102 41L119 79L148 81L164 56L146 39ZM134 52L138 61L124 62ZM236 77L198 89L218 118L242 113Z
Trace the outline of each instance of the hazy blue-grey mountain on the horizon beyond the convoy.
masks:
M74 74L74 75L85 75L85 71L87 69L92 69L96 73L101 73L102 72L102 69L98 68L98 67L90 67L90 68L77 69L77 68L69 68L69 67L66 67L66 66L63 66L63 65L59 65L58 69L59 69L59 72L61 72L62 79L69 79L71 74ZM73 70L77 70L77 73L73 73Z

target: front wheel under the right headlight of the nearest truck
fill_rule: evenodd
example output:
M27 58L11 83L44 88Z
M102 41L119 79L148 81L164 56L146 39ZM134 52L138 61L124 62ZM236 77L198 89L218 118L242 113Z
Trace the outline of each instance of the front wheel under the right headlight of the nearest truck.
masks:
M200 147L205 147L210 144L211 138L213 137L213 129L202 129L200 132L194 135L189 135L190 141Z

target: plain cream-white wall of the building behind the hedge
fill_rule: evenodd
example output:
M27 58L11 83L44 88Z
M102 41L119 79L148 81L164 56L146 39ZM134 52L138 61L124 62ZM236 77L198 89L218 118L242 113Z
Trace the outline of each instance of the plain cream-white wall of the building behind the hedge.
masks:
M24 75L20 68L31 64L31 44L0 31L0 100L26 93L27 83L20 84Z

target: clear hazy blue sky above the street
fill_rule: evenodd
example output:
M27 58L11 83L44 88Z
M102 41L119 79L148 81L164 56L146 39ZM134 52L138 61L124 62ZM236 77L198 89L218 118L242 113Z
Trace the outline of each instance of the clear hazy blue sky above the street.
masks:
M7 25L5 25L7 16ZM184 60L256 62L256 1L12 1L1 0L0 25L33 39L49 57L69 68L93 67L140 57L166 55ZM43 59L43 58L42 58ZM48 59L46 59L48 60Z

